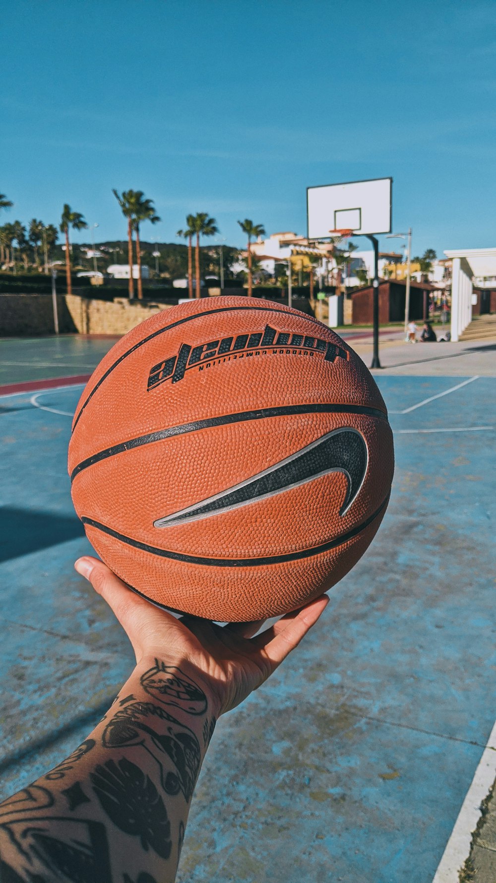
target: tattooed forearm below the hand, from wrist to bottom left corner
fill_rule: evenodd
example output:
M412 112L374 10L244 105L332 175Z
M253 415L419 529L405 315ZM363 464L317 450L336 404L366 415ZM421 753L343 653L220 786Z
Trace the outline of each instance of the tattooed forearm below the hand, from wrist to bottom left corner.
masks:
M171 883L214 725L191 667L136 670L69 758L0 804L1 883Z

